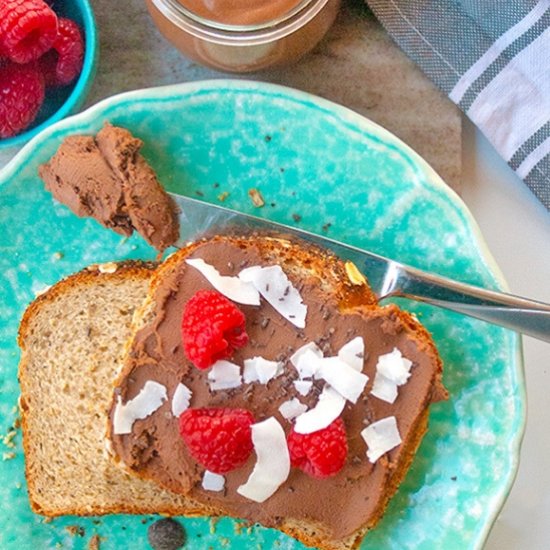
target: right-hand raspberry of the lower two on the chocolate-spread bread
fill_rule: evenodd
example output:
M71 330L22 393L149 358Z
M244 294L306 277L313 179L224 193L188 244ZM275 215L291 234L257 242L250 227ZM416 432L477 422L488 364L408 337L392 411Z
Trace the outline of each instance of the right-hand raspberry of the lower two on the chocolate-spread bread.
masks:
M311 434L299 434L291 430L287 444L290 463L319 479L337 474L348 455L346 428L341 418Z

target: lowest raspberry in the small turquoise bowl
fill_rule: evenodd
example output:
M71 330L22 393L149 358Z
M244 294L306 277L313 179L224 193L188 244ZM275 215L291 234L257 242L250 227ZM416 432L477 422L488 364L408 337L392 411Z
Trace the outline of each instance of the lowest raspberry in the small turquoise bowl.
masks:
M34 64L8 63L0 66L0 90L0 138L7 138L35 119L44 102L44 79Z

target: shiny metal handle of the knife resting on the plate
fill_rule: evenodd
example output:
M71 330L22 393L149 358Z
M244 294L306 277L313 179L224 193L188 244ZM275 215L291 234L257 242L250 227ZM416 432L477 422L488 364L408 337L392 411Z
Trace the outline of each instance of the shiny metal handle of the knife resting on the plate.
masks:
M486 290L398 263L388 271L381 294L450 309L550 342L550 304L544 302Z

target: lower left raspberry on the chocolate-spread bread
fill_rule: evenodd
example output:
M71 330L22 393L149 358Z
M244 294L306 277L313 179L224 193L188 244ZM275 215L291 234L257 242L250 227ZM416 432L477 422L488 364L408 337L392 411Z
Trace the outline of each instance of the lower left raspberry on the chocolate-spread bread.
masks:
M180 416L180 434L197 462L224 474L250 456L253 423L252 413L245 409L187 409Z

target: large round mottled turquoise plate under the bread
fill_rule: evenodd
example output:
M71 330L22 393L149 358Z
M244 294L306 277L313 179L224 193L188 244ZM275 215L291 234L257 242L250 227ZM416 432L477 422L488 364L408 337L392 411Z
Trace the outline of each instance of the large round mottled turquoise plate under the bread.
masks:
M504 288L460 199L411 149L365 118L323 99L255 82L218 80L115 96L46 129L0 173L0 417L14 422L19 388L16 335L35 295L93 262L153 258L83 220L44 191L37 167L75 133L109 120L145 142L144 155L171 191L224 204L398 258L443 275ZM266 204L255 208L255 187ZM301 216L296 221L297 216ZM513 482L525 421L516 334L414 303L445 363L450 399L432 407L430 429L404 483L364 549L479 548ZM0 462L0 548L147 548L153 518L58 518L28 505L21 436ZM4 455L5 458L11 455ZM233 520L183 519L188 548L303 546ZM84 528L72 536L69 525Z

